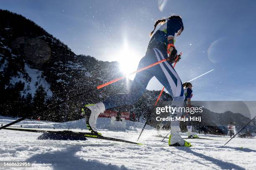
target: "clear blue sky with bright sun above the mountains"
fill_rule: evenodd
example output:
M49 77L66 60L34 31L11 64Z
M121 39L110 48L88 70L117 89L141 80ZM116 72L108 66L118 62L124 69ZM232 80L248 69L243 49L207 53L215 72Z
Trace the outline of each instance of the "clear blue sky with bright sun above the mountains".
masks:
M155 20L181 15L184 32L175 46L183 52L176 66L182 81L215 69L192 82L192 99L255 100L254 0L167 0L162 11L158 0L1 0L0 8L33 20L76 54L132 70L145 55ZM147 88L162 85L153 78Z

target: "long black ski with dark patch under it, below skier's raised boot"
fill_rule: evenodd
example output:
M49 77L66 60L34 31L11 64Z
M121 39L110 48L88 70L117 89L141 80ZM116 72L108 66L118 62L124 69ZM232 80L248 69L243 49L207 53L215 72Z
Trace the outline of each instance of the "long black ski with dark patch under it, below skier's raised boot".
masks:
M83 132L73 132L71 130L64 130L64 131L53 131L53 130L34 130L28 128L5 128L6 130L18 130L18 131L25 131L25 132L36 132L36 133L44 133L43 135L39 136L39 140L87 140L87 138L95 138L95 139L103 139L103 140L111 140L116 142L123 142L123 143L131 143L136 145L143 145L141 143L131 142L128 140L122 140L117 138L110 138L105 137L102 135L95 135L94 133L83 133Z

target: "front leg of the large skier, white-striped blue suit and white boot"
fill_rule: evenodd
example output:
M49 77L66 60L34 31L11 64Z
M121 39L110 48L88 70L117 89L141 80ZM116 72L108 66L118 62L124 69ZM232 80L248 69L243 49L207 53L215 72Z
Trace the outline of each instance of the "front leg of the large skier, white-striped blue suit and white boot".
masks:
M159 49L154 48L154 52L158 61L165 58L163 52L161 52ZM162 62L152 69L154 69L155 77L159 80L159 82L161 82L162 85L164 85L170 95L172 95L172 106L183 107L185 97L182 82L179 78L179 75L174 70L172 64L169 62ZM174 114L176 114L176 117L181 117L182 115L181 112L175 112ZM169 137L169 145L191 146L190 143L187 143L181 138L179 135L179 130L179 120L174 118L174 121L171 122L171 135Z

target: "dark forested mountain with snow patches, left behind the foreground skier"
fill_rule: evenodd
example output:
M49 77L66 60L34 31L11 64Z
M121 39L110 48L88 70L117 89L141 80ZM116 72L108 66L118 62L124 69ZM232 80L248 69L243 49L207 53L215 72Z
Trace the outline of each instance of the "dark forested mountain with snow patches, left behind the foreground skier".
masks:
M76 55L63 42L21 15L0 10L0 114L28 116L47 105L67 100L122 74L118 62L103 62ZM99 102L113 93L126 92L119 81L75 102L50 110L41 120L69 121L81 118L84 103ZM159 92L147 91L136 107L138 116L153 107ZM168 94L163 95L167 99Z

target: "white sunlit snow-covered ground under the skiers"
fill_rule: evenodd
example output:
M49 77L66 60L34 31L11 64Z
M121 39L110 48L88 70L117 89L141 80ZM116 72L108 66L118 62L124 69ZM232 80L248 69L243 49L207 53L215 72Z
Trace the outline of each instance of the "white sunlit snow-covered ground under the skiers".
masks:
M13 121L0 117L1 123ZM23 127L51 128L88 132L79 127L81 121L57 123L44 121L19 122ZM128 124L132 124L128 122ZM75 129L72 129L75 127ZM76 125L76 126L75 126ZM136 141L138 131L110 131L102 129L102 135ZM65 128L66 126L66 128ZM55 129L53 129L55 127ZM57 129L58 128L58 129ZM167 131L162 131L166 135ZM165 169L256 169L256 139L234 138L228 136L200 135L213 140L188 139L193 147L169 147L167 139L156 137L156 130L148 128L143 132L140 143L133 145L89 138L86 141L37 140L42 133L0 130L0 161L27 161L33 163L33 170L165 170ZM186 137L185 134L183 136ZM242 148L243 147L243 148ZM10 168L14 169L14 168ZM19 170L24 168L17 168ZM31 168L27 168L31 170Z

